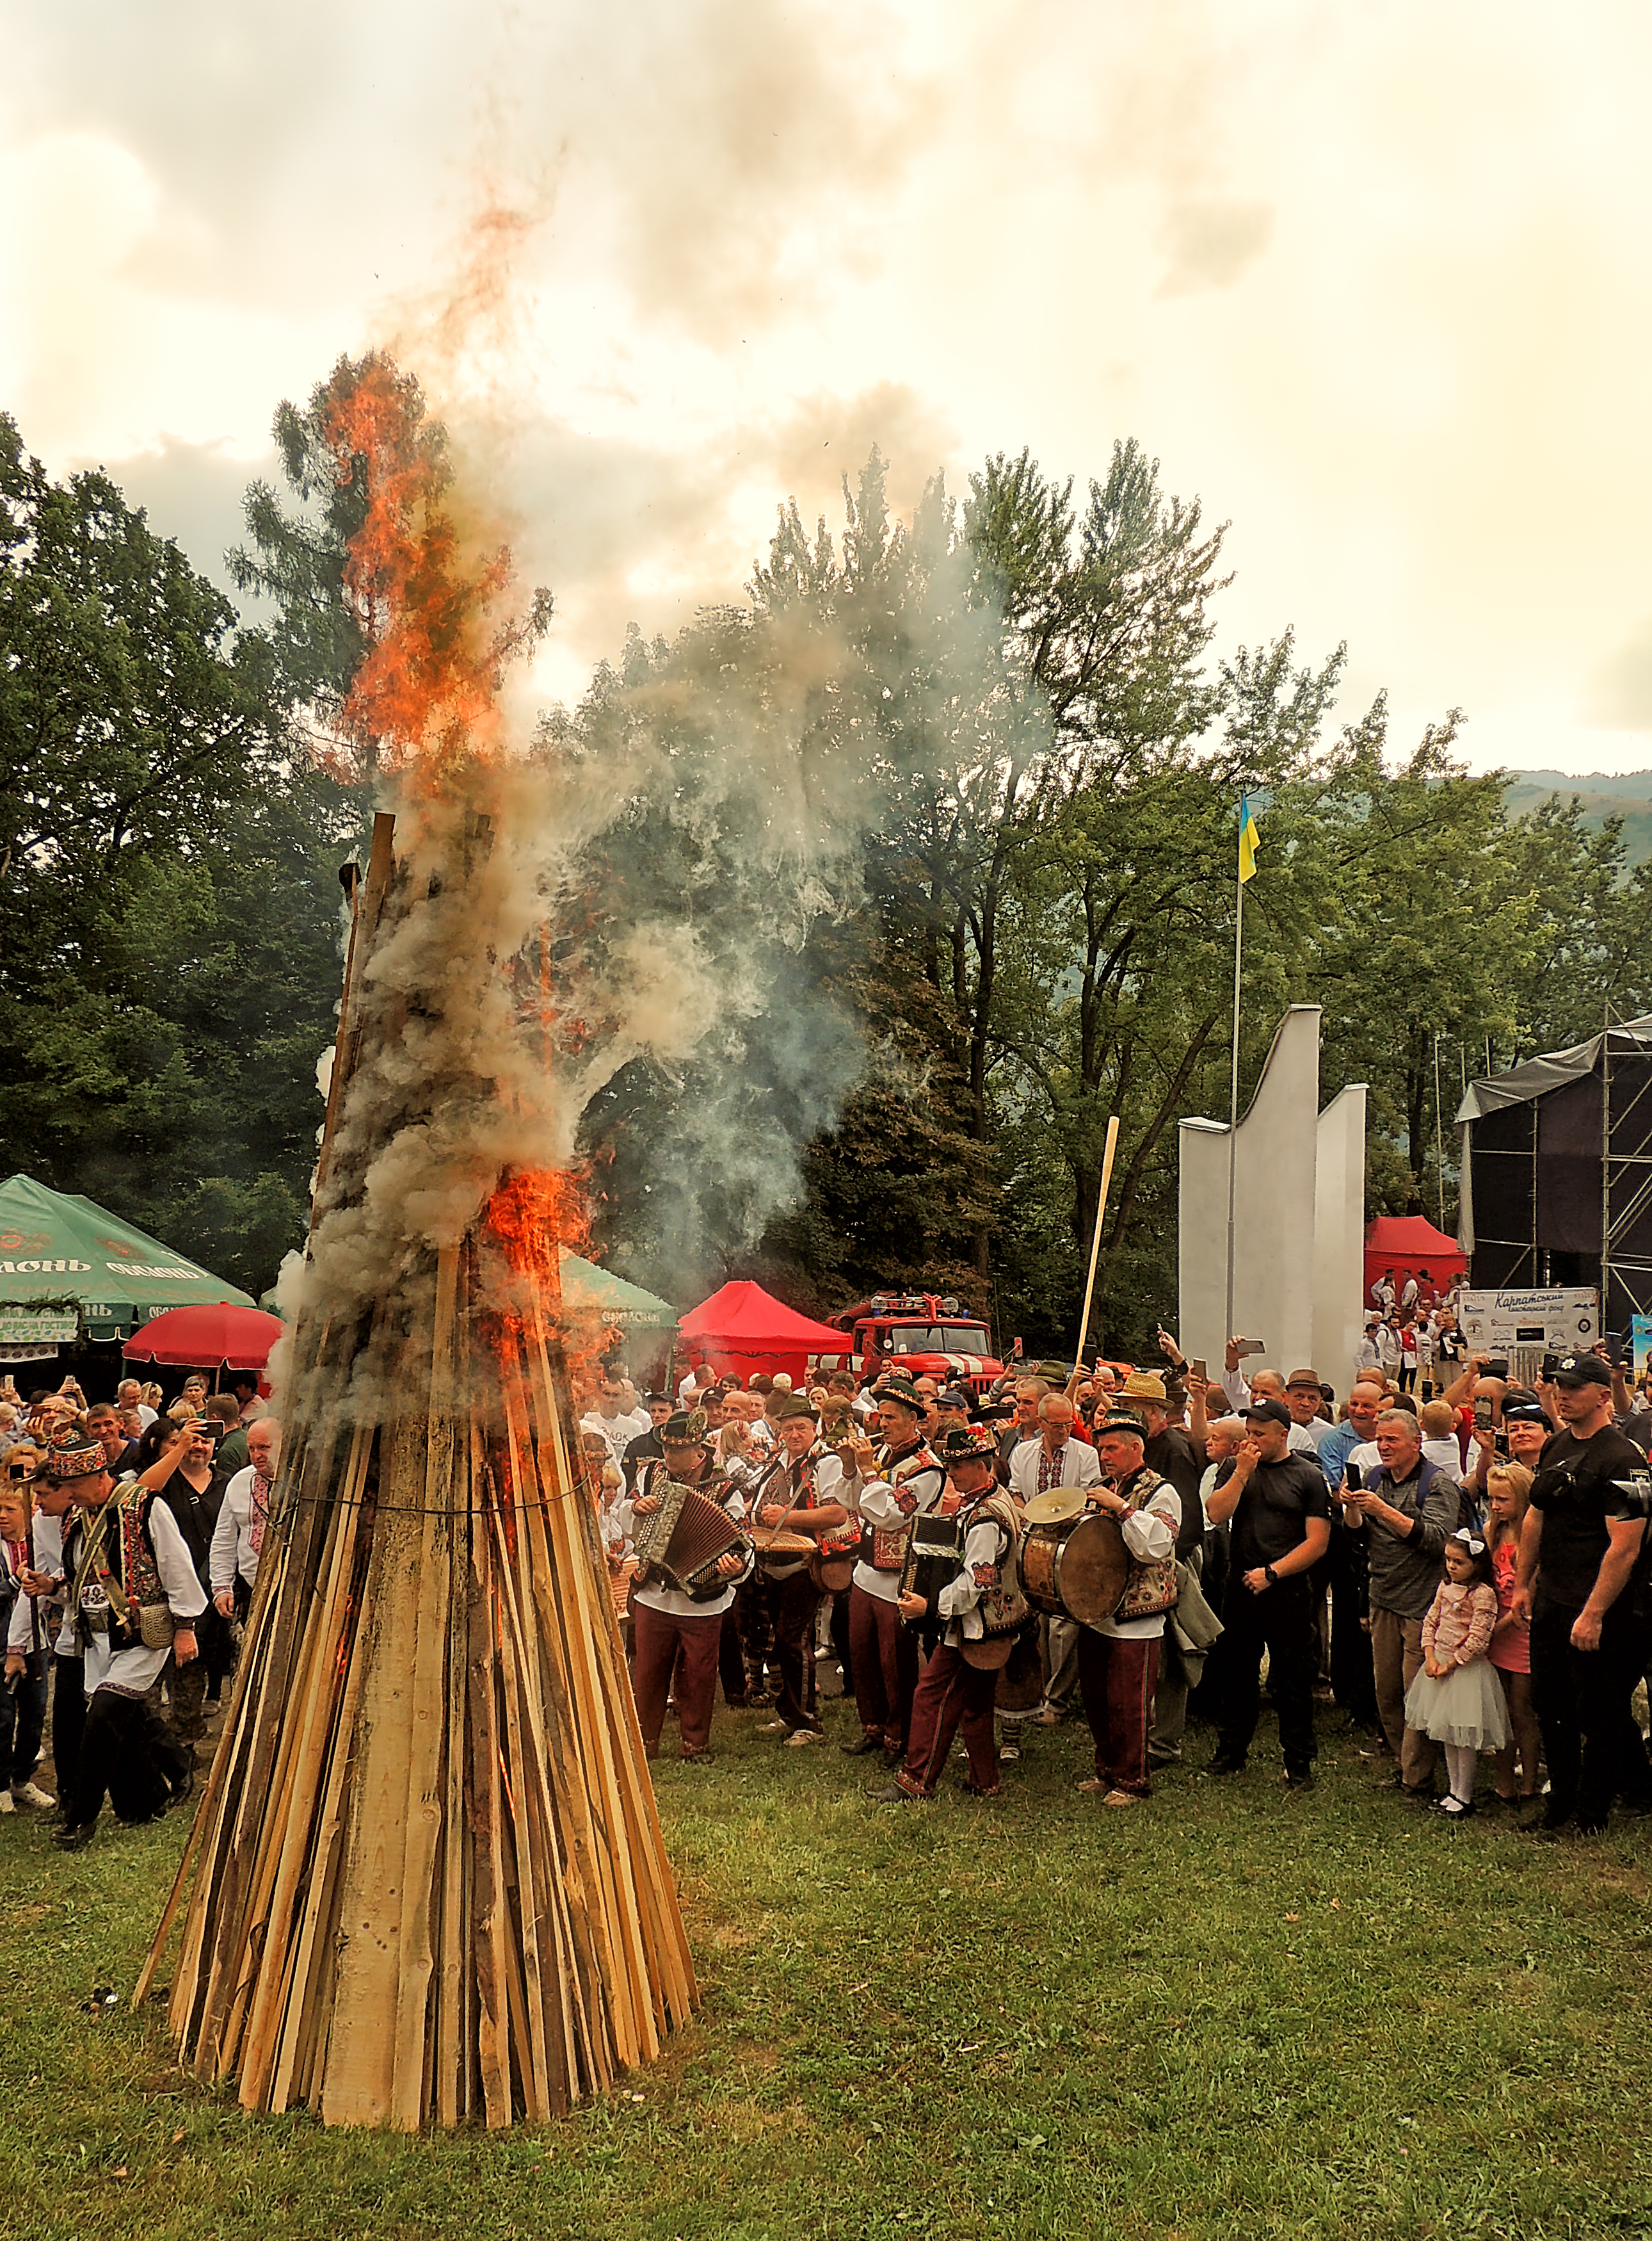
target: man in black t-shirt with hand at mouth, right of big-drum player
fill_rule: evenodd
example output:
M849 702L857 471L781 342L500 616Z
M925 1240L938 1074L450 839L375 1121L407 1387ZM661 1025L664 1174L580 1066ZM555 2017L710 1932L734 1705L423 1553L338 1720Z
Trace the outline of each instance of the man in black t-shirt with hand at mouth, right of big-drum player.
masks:
M1237 1775L1251 1752L1262 1703L1262 1652L1280 1714L1280 1750L1291 1788L1314 1782L1314 1589L1309 1566L1331 1540L1331 1497L1311 1454L1291 1454L1291 1412L1282 1401L1240 1410L1249 1436L1217 1479L1208 1517L1233 1519L1228 1591L1222 1600L1228 1683L1213 1775Z

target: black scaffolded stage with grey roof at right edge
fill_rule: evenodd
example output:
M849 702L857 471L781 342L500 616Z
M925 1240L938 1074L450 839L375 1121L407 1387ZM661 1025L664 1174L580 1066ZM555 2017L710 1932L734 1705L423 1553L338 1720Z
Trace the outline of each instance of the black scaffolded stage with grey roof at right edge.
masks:
M1468 1085L1457 1242L1477 1291L1591 1284L1652 1313L1652 1017Z

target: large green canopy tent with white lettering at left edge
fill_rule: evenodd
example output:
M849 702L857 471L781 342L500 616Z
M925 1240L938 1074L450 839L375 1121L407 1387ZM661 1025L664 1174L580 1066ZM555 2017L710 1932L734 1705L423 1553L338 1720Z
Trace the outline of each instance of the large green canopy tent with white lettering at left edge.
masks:
M0 1360L130 1338L168 1307L251 1298L159 1237L27 1174L0 1183Z

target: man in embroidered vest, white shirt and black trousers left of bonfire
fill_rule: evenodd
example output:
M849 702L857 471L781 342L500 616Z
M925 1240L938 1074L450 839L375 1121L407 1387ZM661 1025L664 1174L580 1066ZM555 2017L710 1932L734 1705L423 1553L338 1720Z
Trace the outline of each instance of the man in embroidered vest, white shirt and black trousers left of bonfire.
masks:
M117 1490L101 1445L54 1450L40 1477L67 1484L76 1504L63 1533L63 1627L85 1658L85 1728L54 1842L78 1851L105 1795L121 1820L141 1822L195 1788L188 1752L148 1699L168 1656L184 1672L195 1663L206 1593L173 1513L134 1479Z

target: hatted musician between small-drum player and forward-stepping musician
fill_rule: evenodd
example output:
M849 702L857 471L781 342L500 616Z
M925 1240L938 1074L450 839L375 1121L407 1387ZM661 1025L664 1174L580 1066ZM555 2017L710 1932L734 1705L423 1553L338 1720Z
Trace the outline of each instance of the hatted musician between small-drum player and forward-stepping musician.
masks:
M917 1687L917 1636L901 1625L897 1596L912 1519L941 1499L946 1472L924 1439L924 1405L906 1378L890 1378L879 1394L879 1445L847 1448L854 1479L845 1497L861 1519L861 1560L850 1582L850 1670L861 1735L843 1750L861 1757L906 1750Z

